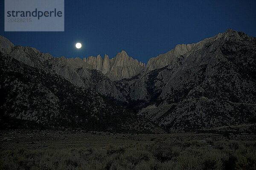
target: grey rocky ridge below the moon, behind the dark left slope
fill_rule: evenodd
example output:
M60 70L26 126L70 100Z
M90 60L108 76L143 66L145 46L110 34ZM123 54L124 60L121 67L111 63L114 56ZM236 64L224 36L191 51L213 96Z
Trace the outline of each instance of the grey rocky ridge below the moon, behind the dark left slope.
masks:
M102 95L117 101L127 102L114 82L101 71L81 60L81 58L53 58L35 48L14 46L8 39L0 36L3 48L0 52L21 61L29 66L54 72L70 83L100 92Z

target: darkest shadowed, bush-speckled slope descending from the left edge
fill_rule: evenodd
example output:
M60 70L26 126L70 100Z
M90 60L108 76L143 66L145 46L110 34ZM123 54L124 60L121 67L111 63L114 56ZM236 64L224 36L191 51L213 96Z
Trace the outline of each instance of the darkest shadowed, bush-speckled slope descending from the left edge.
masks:
M74 86L52 72L23 64L2 53L0 63L0 119L4 127L163 132L98 93Z

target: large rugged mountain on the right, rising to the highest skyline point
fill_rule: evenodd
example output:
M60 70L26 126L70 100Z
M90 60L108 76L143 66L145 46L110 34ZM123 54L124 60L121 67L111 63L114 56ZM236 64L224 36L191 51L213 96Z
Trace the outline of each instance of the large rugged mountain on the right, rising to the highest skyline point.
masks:
M172 132L255 123L255 40L228 30L196 52L149 72L144 79L151 80L158 96L139 114ZM154 96L151 89L147 92Z

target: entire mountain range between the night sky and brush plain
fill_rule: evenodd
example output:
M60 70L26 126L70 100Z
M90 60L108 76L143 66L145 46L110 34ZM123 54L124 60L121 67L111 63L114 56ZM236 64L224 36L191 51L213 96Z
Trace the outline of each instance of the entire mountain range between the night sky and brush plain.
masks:
M3 124L163 133L256 122L256 37L243 32L179 44L146 65L125 51L53 58L2 36L0 52Z

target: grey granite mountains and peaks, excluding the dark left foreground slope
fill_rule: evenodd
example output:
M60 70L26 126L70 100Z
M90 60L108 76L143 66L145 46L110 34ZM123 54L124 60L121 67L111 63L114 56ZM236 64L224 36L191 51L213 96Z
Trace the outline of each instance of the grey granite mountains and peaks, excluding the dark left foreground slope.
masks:
M4 37L0 51L10 62L59 76L78 91L104 95L168 132L256 122L256 38L243 32L228 29L198 43L177 45L146 65L125 51L111 59L53 58Z

